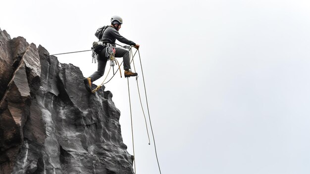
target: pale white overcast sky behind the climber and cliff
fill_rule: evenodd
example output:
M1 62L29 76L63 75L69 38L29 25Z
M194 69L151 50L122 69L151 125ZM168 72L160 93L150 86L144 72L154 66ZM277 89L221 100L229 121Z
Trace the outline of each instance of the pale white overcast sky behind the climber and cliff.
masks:
M112 15L141 45L162 174L310 173L309 0L5 0L0 28L57 54L89 50ZM130 81L137 173L158 174ZM105 86L133 154L127 80Z

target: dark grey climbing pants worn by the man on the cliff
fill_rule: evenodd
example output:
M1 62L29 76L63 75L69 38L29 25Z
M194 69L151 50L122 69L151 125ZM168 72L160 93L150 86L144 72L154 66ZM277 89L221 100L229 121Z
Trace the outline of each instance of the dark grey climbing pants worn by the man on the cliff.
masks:
M129 51L121 49L121 48L115 48L115 58L123 58L124 63L124 69L128 70L130 69L130 55ZM89 76L93 81L96 81L100 77L103 76L106 61L108 60L107 57L105 57L105 48L103 51L101 51L99 54L97 54L97 61L98 61L98 69L96 72L94 72L91 76Z

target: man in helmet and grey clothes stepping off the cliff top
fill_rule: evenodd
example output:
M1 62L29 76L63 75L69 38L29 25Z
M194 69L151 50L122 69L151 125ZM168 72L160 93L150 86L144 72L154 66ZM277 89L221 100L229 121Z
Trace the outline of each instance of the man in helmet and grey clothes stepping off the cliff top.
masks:
M103 36L100 39L100 41L108 41L110 44L114 44L116 39L124 44L134 46L135 48L139 49L140 45L129 41L128 39L121 36L118 31L121 28L121 25L123 24L123 20L119 16L112 16L111 18L111 25L105 29L103 32ZM104 46L104 49L97 54L97 60L98 60L98 70L94 72L91 76L84 78L84 84L86 89L91 92L92 91L92 82L96 81L100 77L103 76L106 61L108 60L108 57L105 56L105 49L106 46ZM132 72L130 69L130 55L129 51L121 49L121 48L115 48L115 58L123 58L124 63L124 75L125 77L130 76L137 76L138 73Z

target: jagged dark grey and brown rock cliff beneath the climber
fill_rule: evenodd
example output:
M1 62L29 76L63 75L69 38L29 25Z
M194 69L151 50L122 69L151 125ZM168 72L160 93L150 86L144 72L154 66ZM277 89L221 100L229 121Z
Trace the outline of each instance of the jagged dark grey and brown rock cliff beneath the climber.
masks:
M80 69L0 30L0 174L133 174L120 112Z

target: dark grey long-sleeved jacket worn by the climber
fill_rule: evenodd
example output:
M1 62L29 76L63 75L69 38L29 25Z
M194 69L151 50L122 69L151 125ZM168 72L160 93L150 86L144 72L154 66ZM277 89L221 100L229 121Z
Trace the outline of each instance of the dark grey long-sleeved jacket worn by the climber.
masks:
M135 46L136 44L126 38L124 38L123 36L121 36L118 31L113 28L113 27L107 27L103 33L103 37L100 41L104 41L104 40L107 40L107 41L110 41L112 43L110 44L113 44L115 43L116 39L121 42L121 43L124 43L124 44L127 44L127 45L133 45Z

